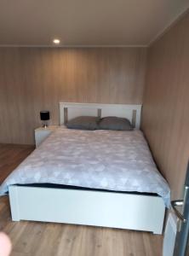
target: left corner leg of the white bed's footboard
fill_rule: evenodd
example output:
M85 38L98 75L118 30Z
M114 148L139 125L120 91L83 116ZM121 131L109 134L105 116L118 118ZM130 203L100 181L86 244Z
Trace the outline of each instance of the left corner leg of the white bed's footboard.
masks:
M9 186L10 211L13 221L20 221L19 195L16 186Z

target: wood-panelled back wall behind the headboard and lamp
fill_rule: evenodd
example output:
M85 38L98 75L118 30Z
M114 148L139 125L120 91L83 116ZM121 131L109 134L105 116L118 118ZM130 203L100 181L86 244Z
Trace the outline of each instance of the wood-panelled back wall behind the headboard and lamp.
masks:
M59 102L140 104L145 73L145 48L0 48L0 143L34 143Z

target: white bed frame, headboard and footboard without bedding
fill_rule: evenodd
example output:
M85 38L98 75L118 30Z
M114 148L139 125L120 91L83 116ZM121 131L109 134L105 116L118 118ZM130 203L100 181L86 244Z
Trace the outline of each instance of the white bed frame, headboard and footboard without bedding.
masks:
M60 125L79 115L119 116L140 128L140 105L60 102ZM84 224L162 234L165 206L158 195L9 186L14 221Z

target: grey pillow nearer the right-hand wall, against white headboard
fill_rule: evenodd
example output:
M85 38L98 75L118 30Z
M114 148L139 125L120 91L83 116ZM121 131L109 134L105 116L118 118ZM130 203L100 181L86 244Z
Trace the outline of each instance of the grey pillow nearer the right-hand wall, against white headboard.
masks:
M132 131L133 126L130 124L129 119L118 118L116 116L108 116L100 119L98 129L113 131Z

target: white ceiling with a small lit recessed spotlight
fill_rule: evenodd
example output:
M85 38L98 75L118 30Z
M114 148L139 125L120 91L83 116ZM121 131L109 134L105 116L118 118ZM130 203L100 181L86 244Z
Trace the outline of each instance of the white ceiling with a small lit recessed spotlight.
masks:
M189 0L1 0L1 45L146 46Z

